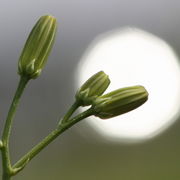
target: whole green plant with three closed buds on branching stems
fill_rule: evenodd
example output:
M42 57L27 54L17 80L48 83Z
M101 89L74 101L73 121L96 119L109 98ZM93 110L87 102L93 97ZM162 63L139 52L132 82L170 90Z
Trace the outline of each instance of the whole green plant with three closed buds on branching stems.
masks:
M10 180L55 138L82 119L92 115L101 119L118 116L141 106L148 98L148 93L143 86L121 88L103 95L110 84L110 80L103 71L100 71L90 77L77 91L75 102L64 117L59 120L56 129L12 165L9 138L16 108L27 83L41 74L53 46L56 29L57 22L54 17L50 15L42 16L32 29L20 56L18 63L20 81L12 100L0 141L3 180ZM72 117L73 113L80 106L90 107Z

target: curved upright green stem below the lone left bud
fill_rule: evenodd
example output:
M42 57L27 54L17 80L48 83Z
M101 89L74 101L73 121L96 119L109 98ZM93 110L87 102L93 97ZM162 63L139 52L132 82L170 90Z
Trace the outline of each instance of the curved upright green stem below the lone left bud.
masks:
M11 161L10 161L10 152L9 152L9 138L10 138L10 133L11 133L11 127L12 127L12 121L20 100L20 97L23 93L23 90L28 82L28 78L21 77L16 93L14 95L14 98L12 100L12 104L10 106L7 119L5 122L4 130L3 130L3 135L2 135L2 143L3 146L1 148L1 153L2 153L2 166L3 166L3 180L9 180L11 177Z

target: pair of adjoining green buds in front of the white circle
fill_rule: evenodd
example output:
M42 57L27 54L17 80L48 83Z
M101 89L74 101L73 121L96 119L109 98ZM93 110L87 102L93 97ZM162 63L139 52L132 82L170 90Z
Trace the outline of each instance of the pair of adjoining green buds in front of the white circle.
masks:
M108 75L100 71L81 86L76 100L81 106L91 105L93 115L108 119L134 110L148 99L148 92L143 86L121 88L103 95L109 84Z

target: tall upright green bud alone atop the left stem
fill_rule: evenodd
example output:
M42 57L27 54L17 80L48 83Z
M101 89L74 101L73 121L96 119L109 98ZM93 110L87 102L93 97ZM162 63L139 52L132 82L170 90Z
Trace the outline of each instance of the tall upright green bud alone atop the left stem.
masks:
M42 16L32 29L21 53L18 73L29 79L37 78L54 44L57 29L56 19Z

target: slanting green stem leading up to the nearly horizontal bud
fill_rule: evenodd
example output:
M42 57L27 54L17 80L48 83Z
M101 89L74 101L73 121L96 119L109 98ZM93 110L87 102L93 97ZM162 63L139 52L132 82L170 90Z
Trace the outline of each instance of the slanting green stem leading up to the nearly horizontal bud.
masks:
M43 150L49 143L51 143L57 136L63 133L65 130L79 122L80 120L93 115L93 110L90 108L83 113L75 116L71 120L59 125L54 131L52 131L48 136L46 136L39 144L32 148L26 155L24 155L13 168L24 167L34 156L36 156L41 150Z

